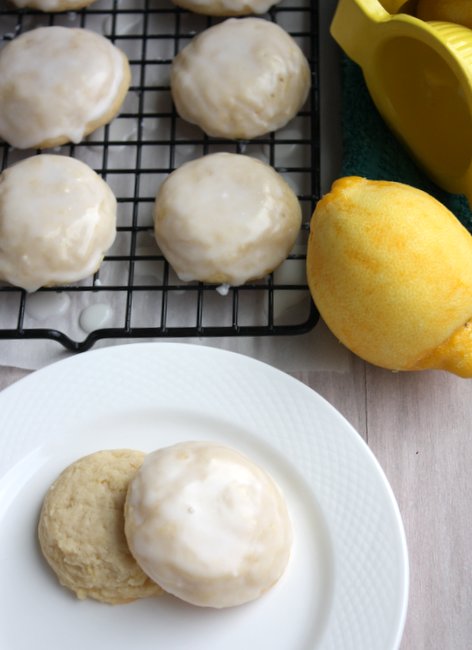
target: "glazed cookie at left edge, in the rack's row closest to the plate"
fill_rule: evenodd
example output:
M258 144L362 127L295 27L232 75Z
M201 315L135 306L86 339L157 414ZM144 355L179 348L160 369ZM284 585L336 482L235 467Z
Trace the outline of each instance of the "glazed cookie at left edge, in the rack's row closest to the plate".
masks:
M0 175L0 279L27 291L100 266L116 235L116 199L85 163L52 154Z

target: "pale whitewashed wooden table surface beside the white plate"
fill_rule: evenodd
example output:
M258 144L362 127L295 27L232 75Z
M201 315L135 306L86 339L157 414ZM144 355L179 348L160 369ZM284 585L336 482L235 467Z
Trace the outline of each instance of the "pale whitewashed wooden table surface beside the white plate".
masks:
M397 497L411 572L401 650L470 650L472 381L444 372L391 373L346 354L343 372L292 374L365 438ZM0 368L0 389L27 373Z

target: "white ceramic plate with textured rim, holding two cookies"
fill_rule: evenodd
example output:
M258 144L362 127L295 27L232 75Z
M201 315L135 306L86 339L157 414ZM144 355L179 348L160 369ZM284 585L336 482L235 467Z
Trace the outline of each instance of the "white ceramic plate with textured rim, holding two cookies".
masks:
M57 474L104 448L220 441L265 467L295 529L289 567L259 600L209 610L171 596L78 601L41 557L36 524ZM0 394L2 650L393 650L408 560L377 461L314 391L248 357L137 343L85 353Z

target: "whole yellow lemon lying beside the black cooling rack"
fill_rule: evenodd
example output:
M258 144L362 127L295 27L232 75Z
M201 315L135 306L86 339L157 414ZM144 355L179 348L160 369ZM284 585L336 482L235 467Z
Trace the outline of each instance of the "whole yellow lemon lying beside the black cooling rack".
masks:
M337 180L313 213L307 277L328 327L366 361L472 377L472 236L429 194Z

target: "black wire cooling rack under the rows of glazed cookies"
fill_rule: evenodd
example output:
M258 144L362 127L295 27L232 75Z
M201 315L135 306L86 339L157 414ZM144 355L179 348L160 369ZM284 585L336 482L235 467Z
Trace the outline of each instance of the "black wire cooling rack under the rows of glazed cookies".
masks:
M44 25L102 33L128 56L132 85L113 122L80 144L56 148L88 163L118 201L115 244L86 281L28 294L0 285L0 339L52 339L83 351L100 339L301 334L318 320L305 277L309 219L320 194L318 7L285 0L263 16L288 31L312 69L307 105L284 129L250 141L210 138L173 107L169 70L191 38L217 22L171 0L98 0L76 12L45 14L0 1L2 44ZM286 262L242 287L184 283L153 238L152 209L162 180L192 158L216 151L270 163L296 191L303 224ZM2 169L35 151L0 144Z

